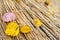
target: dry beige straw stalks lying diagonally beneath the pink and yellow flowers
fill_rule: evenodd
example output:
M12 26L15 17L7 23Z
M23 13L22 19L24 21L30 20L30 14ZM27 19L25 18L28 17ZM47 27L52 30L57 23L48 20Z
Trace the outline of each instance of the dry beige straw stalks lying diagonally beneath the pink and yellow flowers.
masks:
M56 1L47 1L46 5L46 0L0 0L0 40L60 40L60 12ZM31 32L19 31L16 37L7 36L8 23L2 21L6 12L14 12L19 28L28 25Z

